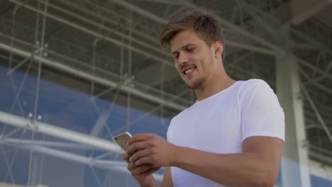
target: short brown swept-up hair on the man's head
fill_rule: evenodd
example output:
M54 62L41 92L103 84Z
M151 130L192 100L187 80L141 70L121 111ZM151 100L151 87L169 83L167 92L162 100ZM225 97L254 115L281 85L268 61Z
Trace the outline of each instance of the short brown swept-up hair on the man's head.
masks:
M182 30L194 30L207 45L211 45L215 41L221 41L223 47L225 47L223 29L214 13L189 11L171 20L160 33L162 47L170 45L170 40ZM223 60L225 58L224 51L225 49L221 55Z

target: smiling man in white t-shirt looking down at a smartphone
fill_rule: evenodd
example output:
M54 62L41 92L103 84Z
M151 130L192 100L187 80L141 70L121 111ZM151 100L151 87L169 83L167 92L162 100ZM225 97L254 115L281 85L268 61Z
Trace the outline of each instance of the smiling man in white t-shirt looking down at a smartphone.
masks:
M175 67L197 102L171 120L167 140L135 135L123 159L140 186L274 186L284 145L284 113L260 79L234 81L223 68L221 24L192 11L162 30Z

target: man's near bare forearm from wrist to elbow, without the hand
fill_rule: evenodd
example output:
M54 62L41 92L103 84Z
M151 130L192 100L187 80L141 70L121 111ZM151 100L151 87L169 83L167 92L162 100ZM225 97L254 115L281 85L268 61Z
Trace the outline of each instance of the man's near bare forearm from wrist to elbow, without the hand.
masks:
M227 186L270 186L270 166L258 154L214 154L177 147L174 166Z

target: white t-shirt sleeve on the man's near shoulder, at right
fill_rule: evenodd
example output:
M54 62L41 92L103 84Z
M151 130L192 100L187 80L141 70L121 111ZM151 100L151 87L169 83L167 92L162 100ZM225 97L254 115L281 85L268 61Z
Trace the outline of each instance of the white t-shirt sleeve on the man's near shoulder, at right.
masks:
M262 80L245 87L240 99L242 141L252 136L279 137L284 141L284 111L273 90Z

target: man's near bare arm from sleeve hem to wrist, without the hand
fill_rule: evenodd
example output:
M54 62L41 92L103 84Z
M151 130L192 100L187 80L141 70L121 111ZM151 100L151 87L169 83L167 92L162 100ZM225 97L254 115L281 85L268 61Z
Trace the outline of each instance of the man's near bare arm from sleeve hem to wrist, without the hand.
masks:
M180 147L175 166L226 186L274 186L283 141L273 137L249 137L243 153L213 154Z

